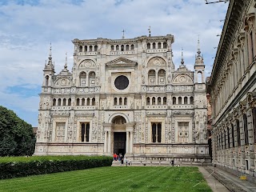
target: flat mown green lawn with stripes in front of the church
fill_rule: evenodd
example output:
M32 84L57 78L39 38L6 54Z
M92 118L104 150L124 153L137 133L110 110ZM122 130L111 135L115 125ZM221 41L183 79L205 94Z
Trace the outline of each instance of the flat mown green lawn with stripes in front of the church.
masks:
M196 184L198 185L195 186ZM0 180L0 191L205 192L211 190L198 167L108 166Z

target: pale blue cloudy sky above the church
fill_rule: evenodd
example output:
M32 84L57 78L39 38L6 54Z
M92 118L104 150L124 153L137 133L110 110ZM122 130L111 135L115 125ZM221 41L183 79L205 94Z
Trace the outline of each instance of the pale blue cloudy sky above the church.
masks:
M214 0L213 0L214 1ZM211 0L209 0L211 2ZM174 35L174 64L184 49L193 70L198 35L206 76L222 33L228 3L204 0L0 0L0 105L38 126L42 70L52 43L55 71L73 65L74 38L126 38Z

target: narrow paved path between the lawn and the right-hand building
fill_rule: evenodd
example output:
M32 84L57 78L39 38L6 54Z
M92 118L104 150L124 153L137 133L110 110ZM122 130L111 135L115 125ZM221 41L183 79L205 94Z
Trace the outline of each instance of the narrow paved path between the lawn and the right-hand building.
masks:
M198 166L198 169L202 173L203 177L206 179L208 186L213 192L229 192L213 175L211 175L203 166Z

